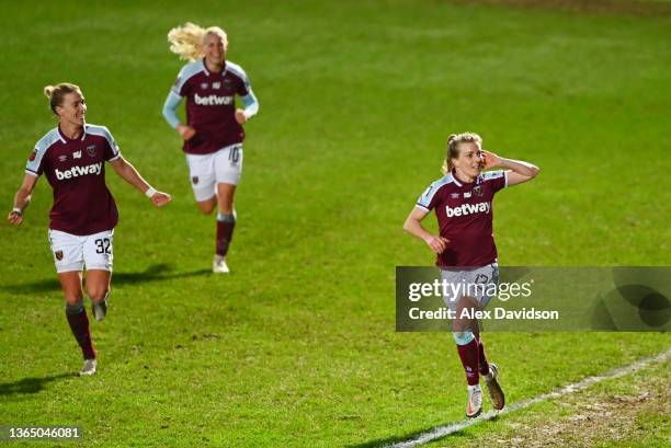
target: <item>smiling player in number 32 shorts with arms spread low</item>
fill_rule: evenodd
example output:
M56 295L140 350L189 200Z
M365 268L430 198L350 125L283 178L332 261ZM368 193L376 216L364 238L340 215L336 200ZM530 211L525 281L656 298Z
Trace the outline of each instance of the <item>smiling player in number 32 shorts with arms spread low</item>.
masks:
M64 82L48 85L44 92L59 123L35 145L8 220L21 225L37 179L44 174L54 189L49 212L54 263L66 299L66 317L84 358L80 375L89 376L95 374L98 363L83 306L82 273L86 266L84 289L93 315L101 321L107 311L114 227L118 219L105 184L105 162L155 206L162 207L171 198L153 189L122 157L106 127L86 123L87 104L79 87Z

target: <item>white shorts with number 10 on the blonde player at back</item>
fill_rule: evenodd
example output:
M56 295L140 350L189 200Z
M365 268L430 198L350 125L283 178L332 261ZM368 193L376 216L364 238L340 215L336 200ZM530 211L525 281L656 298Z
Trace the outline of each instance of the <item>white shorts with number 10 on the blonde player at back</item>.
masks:
M186 154L191 187L197 202L212 198L216 184L238 185L242 174L242 143L219 149L212 154Z

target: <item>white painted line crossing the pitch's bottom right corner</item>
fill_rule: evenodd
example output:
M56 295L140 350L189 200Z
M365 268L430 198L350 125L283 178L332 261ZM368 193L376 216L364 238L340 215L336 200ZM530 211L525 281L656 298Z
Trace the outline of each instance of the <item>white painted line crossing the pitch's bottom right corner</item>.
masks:
M440 438L443 438L445 436L448 436L451 434L454 434L458 430L462 430L464 428L467 428L469 426L476 425L478 423L481 422L486 422L486 421L490 421L493 417L498 416L498 415L503 415L503 414L508 414L511 412L515 412L519 411L521 409L524 407L528 407L532 404L536 404L536 403L541 403L543 401L547 401L547 400L553 400L562 395L567 395L569 393L573 393L577 392L579 390L583 390L589 388L590 386L593 386L598 382L601 382L603 380L607 380L607 379L612 379L612 378L619 378L619 377L624 377L625 375L629 375L629 374L634 374L637 370L640 370L647 366L649 366L650 364L653 363L660 363L660 361L666 361L667 359L669 359L669 357L671 356L671 349L667 351L667 352L662 352L657 356L651 356L649 358L642 358L639 359L633 364L629 364L628 366L623 366L623 367L617 367L613 370L610 370L603 375L598 375L595 377L588 377L581 381L578 382L573 382L571 384L565 386L560 389L555 389L551 392L547 392L547 393L542 393L541 395L534 397L533 399L528 399L528 400L522 400L519 401L516 403L511 404L510 406L507 406L503 411L497 412L497 411L489 411L486 412L484 414L481 414L479 417L477 418L473 418L473 420L466 420L463 422L455 422L455 423L448 423L446 425L442 425L442 426L436 426L431 430L428 430L425 433L420 434L417 437L413 437L410 440L405 440L405 441L398 441L396 444L390 444L390 445L385 445L384 448L413 448L413 447L418 447L420 445L424 445L428 444L430 441L433 440L437 440Z

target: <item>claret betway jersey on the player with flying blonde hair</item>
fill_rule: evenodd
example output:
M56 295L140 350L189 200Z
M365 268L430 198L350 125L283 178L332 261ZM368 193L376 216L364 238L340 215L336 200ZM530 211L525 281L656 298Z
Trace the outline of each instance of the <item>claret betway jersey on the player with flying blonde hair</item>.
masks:
M186 123L196 131L184 141L184 152L208 154L241 143L244 130L236 122L235 95L247 96L249 79L242 68L226 61L218 72L207 70L203 60L185 65L172 92L186 97Z

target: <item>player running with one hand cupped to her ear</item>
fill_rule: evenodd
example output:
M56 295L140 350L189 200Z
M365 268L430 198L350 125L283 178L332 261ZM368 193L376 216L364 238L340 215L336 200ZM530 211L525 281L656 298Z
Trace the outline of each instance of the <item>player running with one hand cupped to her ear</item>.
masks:
M488 296L492 291L488 286L498 284L499 267L492 233L494 194L531 181L538 174L537 166L501 158L482 150L481 145L482 139L477 134L450 136L443 164L445 175L419 197L403 225L406 231L424 241L437 254L436 265L445 282L486 286L470 287L459 297L444 297L457 317L465 308L482 309L487 306L492 298ZM482 172L493 168L499 170ZM427 231L421 223L431 210L437 217L437 236ZM464 288L462 286L462 291ZM498 368L487 360L477 321L474 324L455 319L453 331L468 383L466 416L473 418L482 411L479 375L485 378L492 406L503 409L505 397L497 380Z

